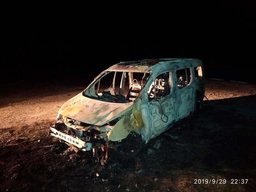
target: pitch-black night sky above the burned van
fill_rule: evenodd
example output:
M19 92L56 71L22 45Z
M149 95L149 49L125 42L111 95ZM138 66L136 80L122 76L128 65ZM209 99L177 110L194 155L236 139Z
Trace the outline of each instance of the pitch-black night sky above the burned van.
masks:
M253 5L46 7L2 7L1 81L89 83L120 61L190 57L208 78L256 82Z

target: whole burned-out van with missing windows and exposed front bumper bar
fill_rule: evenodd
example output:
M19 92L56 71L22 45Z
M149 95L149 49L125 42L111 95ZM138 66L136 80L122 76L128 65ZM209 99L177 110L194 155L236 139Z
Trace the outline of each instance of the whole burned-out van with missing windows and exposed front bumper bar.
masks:
M199 111L204 91L201 60L121 62L63 104L50 134L76 150L111 145L136 154L142 142Z

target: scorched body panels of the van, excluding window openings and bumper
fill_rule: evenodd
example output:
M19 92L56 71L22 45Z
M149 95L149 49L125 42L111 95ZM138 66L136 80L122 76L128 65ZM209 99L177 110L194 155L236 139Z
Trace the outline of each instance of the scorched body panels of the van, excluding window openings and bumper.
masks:
M193 67L200 67L200 80L195 79ZM178 89L176 70L190 68L191 81ZM108 72L143 72L151 75L136 99L127 103L115 103L94 99L94 84ZM170 73L171 90L162 98L148 99L148 90L155 78L162 73ZM168 80L169 81L169 80ZM142 141L147 143L174 123L192 114L204 96L204 71L202 62L197 59L160 59L121 62L113 65L97 76L80 94L65 102L59 114L88 124L88 126L69 125L69 128L82 131L96 129L107 133L110 141L119 141L132 131L141 134ZM99 98L99 97L98 97ZM117 121L116 119L119 118ZM114 125L111 122L114 122ZM106 125L106 124L109 125ZM106 134L105 133L105 134ZM106 136L106 135L105 135Z

